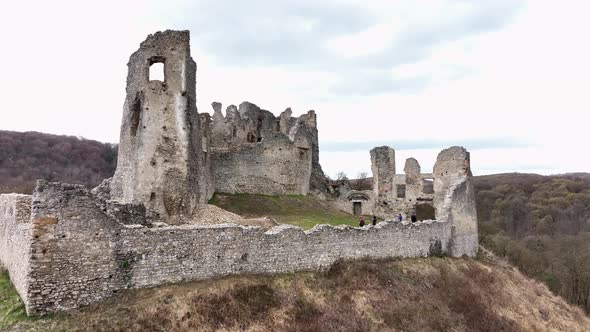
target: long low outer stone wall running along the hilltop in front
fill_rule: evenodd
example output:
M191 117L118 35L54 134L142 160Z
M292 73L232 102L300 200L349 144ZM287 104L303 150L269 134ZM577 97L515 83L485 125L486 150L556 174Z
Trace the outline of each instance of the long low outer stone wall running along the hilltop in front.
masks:
M29 313L75 308L126 288L239 273L318 270L338 259L417 257L445 251L450 224L376 227L123 225L77 185L38 182L33 199Z

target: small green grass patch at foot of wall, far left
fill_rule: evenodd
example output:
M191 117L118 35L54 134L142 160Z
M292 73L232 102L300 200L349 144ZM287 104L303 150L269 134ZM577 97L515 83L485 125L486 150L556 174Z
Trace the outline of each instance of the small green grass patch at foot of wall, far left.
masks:
M28 319L25 305L12 286L8 272L0 269L0 331Z

